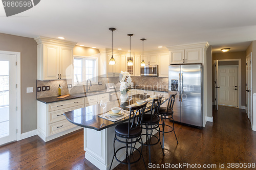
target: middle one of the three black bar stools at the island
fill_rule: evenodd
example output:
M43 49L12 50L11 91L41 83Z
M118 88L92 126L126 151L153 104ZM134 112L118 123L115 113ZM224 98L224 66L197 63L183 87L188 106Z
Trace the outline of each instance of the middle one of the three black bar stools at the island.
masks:
M160 110L161 101L162 101L162 96L160 98L153 99L151 112L149 114L148 113L144 114L143 120L142 120L142 129L146 130L146 134L142 134L142 135L146 135L146 142L143 143L143 145L148 146L149 162L151 162L151 145L155 145L159 142L160 146L162 146L160 141L160 132L158 134L158 137L152 134L154 129L156 129L157 131L160 131L159 110ZM150 132L148 133L148 131ZM157 139L157 142L151 143L151 137L155 137ZM162 149L162 152L163 152L163 149ZM164 152L163 152L163 155L164 155Z

